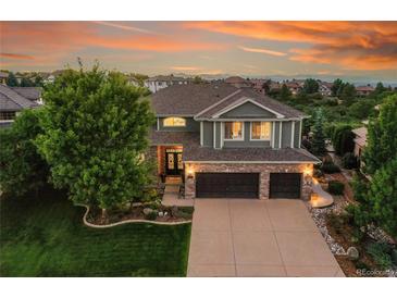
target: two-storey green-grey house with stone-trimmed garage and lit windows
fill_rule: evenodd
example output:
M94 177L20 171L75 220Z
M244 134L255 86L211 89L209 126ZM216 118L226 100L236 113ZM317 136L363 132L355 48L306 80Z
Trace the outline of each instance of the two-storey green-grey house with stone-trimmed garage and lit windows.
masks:
M150 156L186 198L309 198L319 160L301 149L301 112L227 84L171 86L151 103Z

